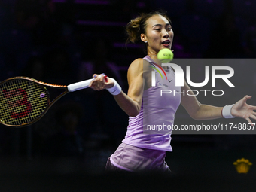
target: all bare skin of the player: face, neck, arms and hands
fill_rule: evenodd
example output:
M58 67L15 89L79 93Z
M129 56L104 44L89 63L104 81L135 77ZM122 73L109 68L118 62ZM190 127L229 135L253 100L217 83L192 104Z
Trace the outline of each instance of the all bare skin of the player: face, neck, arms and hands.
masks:
M151 56L151 59L157 60L157 53L163 48L172 47L172 40L174 33L172 31L172 26L165 17L161 15L154 15L150 17L147 21L146 33L141 34L141 40L147 41L147 52L148 56ZM164 45L163 41L167 41L168 44ZM143 68L143 59L134 60L127 73L129 90L128 93L123 93L123 91L114 96L117 104L123 111L126 112L131 117L136 117L139 114L141 105L142 105L142 94L143 90L151 87L150 81L148 81L148 72L145 72ZM104 81L103 77L98 77L97 74L93 75L95 78L94 81L90 83L90 87L93 90L102 90L114 86L111 78L108 78L108 82ZM184 81L185 82L185 81ZM187 83L184 84L184 87L181 87L181 91L187 93L187 90L190 90ZM203 105L201 104L196 96L187 96L186 94L181 95L181 105L187 110L190 117L196 120L210 120L221 118L221 110L223 107L215 107L212 105ZM231 114L235 117L242 117L251 123L251 119L256 119L256 113L253 110L256 110L255 106L248 105L246 101L251 99L251 96L245 96L233 106L231 109Z

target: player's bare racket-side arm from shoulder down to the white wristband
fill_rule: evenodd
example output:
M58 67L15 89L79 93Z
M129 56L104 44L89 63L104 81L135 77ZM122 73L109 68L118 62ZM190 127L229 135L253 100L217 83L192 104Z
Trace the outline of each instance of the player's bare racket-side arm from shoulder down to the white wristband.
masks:
M136 59L132 62L128 69L127 79L129 84L127 95L121 91L120 94L114 96L114 99L126 114L136 117L142 106L142 94L145 84L143 79L143 59Z

